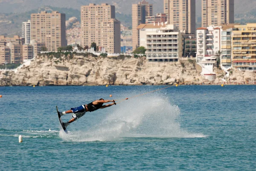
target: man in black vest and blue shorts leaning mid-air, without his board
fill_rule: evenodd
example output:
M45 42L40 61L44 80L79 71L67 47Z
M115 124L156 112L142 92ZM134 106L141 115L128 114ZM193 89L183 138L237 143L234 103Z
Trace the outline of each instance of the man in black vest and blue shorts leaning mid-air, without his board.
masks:
M103 103L108 103L108 102L113 102L112 104L106 104L106 105L103 105ZM99 99L99 100L95 100L89 104L84 104L84 105L81 105L79 107L74 107L74 108L71 108L70 110L67 110L67 111L64 111L64 112L58 112L58 117L60 118L61 116L67 114L67 113L73 113L72 114L72 119L70 119L69 122L63 122L63 126L64 128L66 129L68 125L70 125L70 123L74 122L76 119L79 119L81 118L82 116L84 116L84 114L86 112L93 112L95 110L98 110L98 109L104 109L106 107L111 107L113 104L116 105L115 101L114 100L104 100L104 99ZM65 130L64 129L64 130Z

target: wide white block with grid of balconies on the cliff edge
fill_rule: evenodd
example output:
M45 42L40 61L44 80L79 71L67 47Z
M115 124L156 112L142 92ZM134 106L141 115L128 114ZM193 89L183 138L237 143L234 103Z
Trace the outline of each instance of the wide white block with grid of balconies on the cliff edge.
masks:
M182 56L182 33L173 24L141 24L138 29L148 61L178 61Z

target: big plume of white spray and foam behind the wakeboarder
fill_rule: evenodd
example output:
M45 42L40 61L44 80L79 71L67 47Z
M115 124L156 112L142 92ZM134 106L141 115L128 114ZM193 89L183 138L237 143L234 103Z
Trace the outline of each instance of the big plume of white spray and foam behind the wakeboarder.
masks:
M131 96L131 95L130 95ZM101 123L87 131L60 132L67 141L115 141L124 137L201 138L180 128L180 109L162 94L140 96L117 104Z

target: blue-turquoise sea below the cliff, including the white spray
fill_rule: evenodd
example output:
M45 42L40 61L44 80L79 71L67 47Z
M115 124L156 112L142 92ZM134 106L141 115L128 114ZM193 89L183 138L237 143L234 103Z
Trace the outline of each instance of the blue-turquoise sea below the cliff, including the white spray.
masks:
M256 86L170 87L60 131L55 105L63 111L162 87L0 87L0 170L255 170Z

